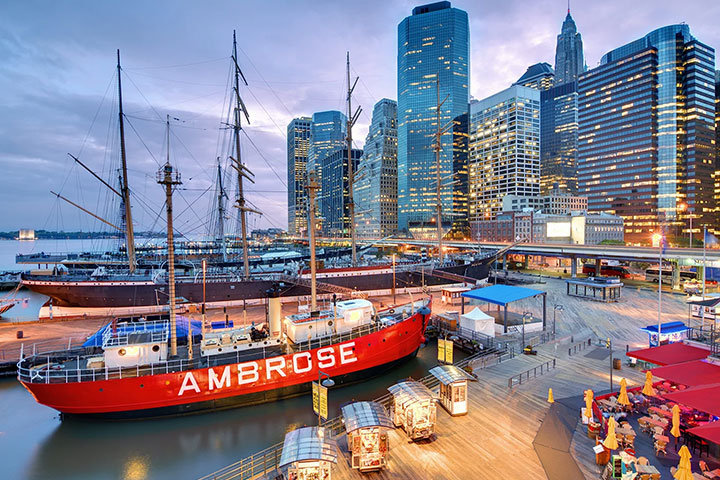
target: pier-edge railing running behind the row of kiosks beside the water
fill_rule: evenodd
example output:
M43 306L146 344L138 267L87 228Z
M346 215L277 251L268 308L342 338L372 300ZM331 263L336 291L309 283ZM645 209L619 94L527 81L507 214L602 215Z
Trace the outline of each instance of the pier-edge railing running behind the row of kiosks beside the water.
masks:
M481 350L474 355L459 360L455 363L455 366L466 369L466 367L472 364L474 369L486 368L488 365L499 364L507 358L512 358L512 356L513 354L507 350ZM492 361L488 361L488 359L491 359ZM440 384L440 381L433 375L426 375L421 378L419 382L431 390L437 388ZM374 401L380 403L386 410L388 410L392 406L393 396L390 393L387 393ZM322 422L322 426L325 427L326 432L329 431L330 435L335 437L341 435L345 431L345 420L342 415L338 415L335 418L330 418ZM264 475L269 473L277 473L279 476L280 472L278 469L282 449L283 442L276 443L265 450L243 458L239 462L233 463L225 468L206 475L200 480L257 480L263 478Z

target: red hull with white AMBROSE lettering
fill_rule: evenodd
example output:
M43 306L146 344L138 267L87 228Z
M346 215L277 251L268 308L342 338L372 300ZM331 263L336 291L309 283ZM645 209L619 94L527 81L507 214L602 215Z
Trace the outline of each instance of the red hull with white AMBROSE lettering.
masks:
M377 374L417 353L429 311L338 344L223 366L92 381L66 377L20 382L41 404L66 415L104 418L181 415L302 395L319 370L340 382ZM21 362L22 363L22 362ZM86 373L81 374L84 378Z

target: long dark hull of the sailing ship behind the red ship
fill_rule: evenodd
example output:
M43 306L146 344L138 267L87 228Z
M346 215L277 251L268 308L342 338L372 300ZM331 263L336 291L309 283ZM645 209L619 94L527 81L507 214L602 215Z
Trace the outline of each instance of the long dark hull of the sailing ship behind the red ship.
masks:
M455 266L444 269L476 280L487 278L488 266ZM361 271L362 272L362 271ZM348 271L332 276L319 275L318 281L358 291L386 290L392 288L393 275L389 269L378 273ZM205 302L228 303L233 301L252 300L267 297L267 290L277 282L272 280L236 280L207 282ZM399 288L436 286L454 283L452 280L423 275L422 272L397 272L396 283ZM64 282L54 279L23 278L23 285L28 289L47 295L54 306L86 307L112 309L118 307L142 307L151 305L167 305L167 285L153 282L106 282L82 281ZM322 291L322 288L319 288ZM203 284L198 282L177 282L176 297L187 303L203 302ZM301 285L286 285L282 288L283 297L300 297L310 295L310 289Z

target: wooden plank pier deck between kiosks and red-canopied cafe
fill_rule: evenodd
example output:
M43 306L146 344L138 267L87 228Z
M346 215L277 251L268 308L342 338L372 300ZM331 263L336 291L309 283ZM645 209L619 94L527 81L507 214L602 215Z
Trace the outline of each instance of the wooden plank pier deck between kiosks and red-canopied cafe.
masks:
M592 336L610 337L614 355L624 358L625 346L631 349L647 346L647 336L640 327L657 321L657 293L627 289L619 303L603 304L564 295L564 282L547 280L538 286L549 292L548 324L552 325L552 305L562 303L557 312L557 332L564 337L556 343L538 348L537 356L518 356L498 365L477 370L479 381L469 385L469 413L451 417L438 407L436 438L426 443L410 443L402 430L390 433L388 468L373 474L361 474L350 468L344 437L338 439L341 456L333 478L345 479L543 479L545 470L533 448L533 440L548 411L548 388L555 399L581 396L587 388L605 392L610 388L610 359L586 357L595 346L568 357L570 337L577 343ZM532 286L531 286L532 287ZM518 302L520 304L522 302ZM540 314L541 302L528 301L514 305ZM663 321L685 320L684 298L664 295ZM509 389L508 377L557 358L557 368L542 376L523 380ZM641 385L641 371L623 365L615 370L614 387L621 378L628 386ZM578 410L578 418L580 411ZM586 478L599 478L594 464L592 441L579 429L573 438L571 453ZM571 479L568 479L571 480Z

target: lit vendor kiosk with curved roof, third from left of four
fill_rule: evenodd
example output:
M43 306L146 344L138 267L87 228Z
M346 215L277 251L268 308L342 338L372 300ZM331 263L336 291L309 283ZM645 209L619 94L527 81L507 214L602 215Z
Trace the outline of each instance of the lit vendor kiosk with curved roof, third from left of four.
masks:
M435 397L422 383L414 380L396 383L388 388L393 396L390 418L402 427L412 440L429 438L435 431L437 408Z

